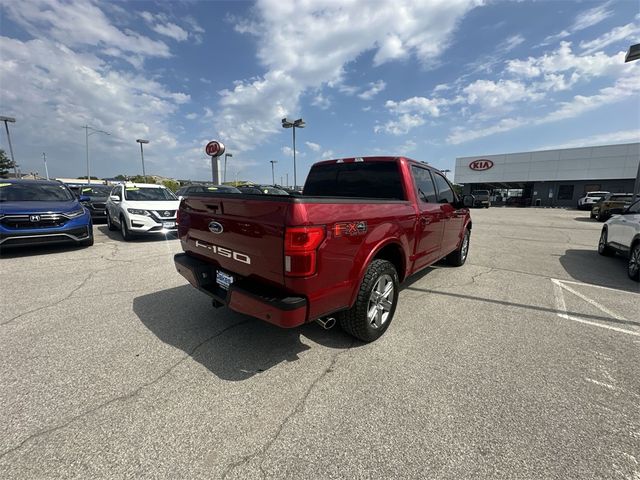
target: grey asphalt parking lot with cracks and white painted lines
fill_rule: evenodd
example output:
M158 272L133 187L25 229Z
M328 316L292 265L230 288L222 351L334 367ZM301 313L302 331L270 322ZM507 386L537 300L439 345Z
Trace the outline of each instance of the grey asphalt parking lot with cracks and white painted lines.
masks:
M473 210L362 344L175 272L176 239L0 258L1 478L640 478L640 290L588 212Z

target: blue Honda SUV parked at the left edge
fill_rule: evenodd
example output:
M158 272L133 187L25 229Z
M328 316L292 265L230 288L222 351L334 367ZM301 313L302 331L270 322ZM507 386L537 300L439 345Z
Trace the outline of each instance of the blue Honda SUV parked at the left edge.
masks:
M66 185L0 179L0 249L14 245L93 245L93 224Z

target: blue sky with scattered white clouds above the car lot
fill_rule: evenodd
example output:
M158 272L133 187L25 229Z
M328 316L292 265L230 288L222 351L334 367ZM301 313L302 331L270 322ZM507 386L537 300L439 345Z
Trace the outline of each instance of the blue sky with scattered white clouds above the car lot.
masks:
M640 139L636 1L0 0L0 114L23 171L293 180L315 161L459 156ZM6 148L6 136L1 135Z

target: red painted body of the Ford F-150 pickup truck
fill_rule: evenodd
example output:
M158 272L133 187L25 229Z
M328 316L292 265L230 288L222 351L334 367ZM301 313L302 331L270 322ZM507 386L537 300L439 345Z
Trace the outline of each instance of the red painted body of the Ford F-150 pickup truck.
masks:
M349 161L353 159L343 160ZM185 198L178 211L180 241L199 270L210 267L203 276L209 283L203 286L191 267L179 265L178 258L184 254L176 256L178 271L235 311L295 327L350 308L367 266L383 249L385 258L391 252L402 281L458 248L464 229L471 227L469 211L458 199L454 204L419 200L411 166L430 167L403 157L364 161L397 162L405 200L215 194ZM211 221L224 231L212 233ZM366 222L366 231L336 236L334 226L342 222ZM322 226L326 236L317 248L315 273L291 277L285 274L285 229L300 226ZM250 263L234 260L235 252ZM233 275L234 285L239 281L238 289L241 285L243 291L232 287L227 293L212 284L218 269ZM299 297L304 303L282 309L271 300L286 297Z

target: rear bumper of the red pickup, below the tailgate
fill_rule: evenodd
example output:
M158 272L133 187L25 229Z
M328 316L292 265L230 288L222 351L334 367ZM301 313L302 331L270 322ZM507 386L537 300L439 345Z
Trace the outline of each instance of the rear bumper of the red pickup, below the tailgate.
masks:
M282 328L307 321L307 299L276 292L269 287L239 280L225 290L216 283L216 268L207 262L179 253L174 257L176 270L201 292L238 313L259 318Z

